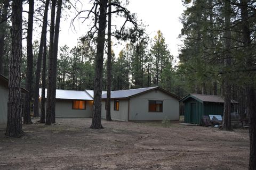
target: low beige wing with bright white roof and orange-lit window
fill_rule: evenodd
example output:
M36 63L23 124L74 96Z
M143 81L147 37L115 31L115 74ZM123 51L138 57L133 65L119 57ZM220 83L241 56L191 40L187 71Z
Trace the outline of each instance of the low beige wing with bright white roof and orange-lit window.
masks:
M39 97L41 98L39 89ZM92 90L56 90L56 117L91 117L93 107ZM45 89L45 98L47 98L47 89ZM41 101L41 99L39 99ZM39 105L41 106L41 105ZM46 104L45 104L46 109Z

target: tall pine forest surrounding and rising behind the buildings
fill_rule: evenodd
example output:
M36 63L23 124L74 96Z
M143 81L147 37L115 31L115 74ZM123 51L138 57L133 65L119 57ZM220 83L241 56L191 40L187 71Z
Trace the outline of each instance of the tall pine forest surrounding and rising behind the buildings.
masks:
M81 2L82 3L82 2ZM253 0L183 0L183 28L178 57L171 54L165 35L153 39L139 16L126 8L128 1L93 0L75 20L90 20L90 27L75 47L59 46L60 18L77 10L69 0L0 1L0 73L9 78L6 135L22 132L34 116L46 125L55 123L55 90L94 90L92 129L100 122L101 91L159 86L183 97L187 94L219 95L225 99L222 129L230 131L231 101L238 113L249 118L250 162L256 168L256 2ZM157 2L156 2L157 3ZM23 7L23 8L22 8ZM112 16L111 16L112 15ZM124 18L120 27L111 17ZM166 16L166 22L167 16ZM172 31L174 25L170 25ZM40 39L33 35L40 32ZM116 39L124 45L115 54ZM38 113L38 91L47 88L46 111ZM107 100L107 115L110 115ZM45 106L42 106L44 108ZM108 114L109 113L109 114ZM111 117L107 117L111 120ZM13 128L15 127L15 128Z

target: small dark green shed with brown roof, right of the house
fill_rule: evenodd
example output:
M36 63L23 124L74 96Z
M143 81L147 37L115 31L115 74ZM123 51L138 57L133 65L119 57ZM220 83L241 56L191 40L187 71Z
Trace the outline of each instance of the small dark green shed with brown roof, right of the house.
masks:
M185 123L201 124L204 115L223 115L224 100L221 96L189 94L183 97ZM231 101L232 111L236 111L236 101Z

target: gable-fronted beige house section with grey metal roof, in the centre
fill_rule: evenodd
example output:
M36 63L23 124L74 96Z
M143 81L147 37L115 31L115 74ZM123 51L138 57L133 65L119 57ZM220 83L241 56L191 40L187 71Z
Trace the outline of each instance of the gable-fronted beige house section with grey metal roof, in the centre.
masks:
M118 121L179 120L179 97L159 88L149 87L111 91L111 118ZM102 95L101 116L106 118L106 98Z

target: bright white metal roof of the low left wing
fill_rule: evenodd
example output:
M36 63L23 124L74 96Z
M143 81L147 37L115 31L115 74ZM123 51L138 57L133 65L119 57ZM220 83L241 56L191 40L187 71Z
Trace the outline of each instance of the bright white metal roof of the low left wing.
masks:
M41 97L42 89L39 89L39 97ZM47 98L47 89L45 89L45 98ZM60 90L56 89L57 99L74 99L74 100L93 100L93 98L85 91L77 90Z

